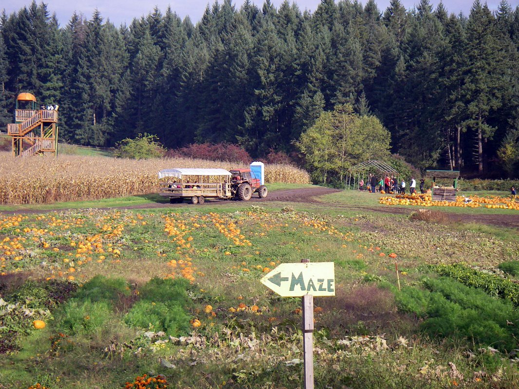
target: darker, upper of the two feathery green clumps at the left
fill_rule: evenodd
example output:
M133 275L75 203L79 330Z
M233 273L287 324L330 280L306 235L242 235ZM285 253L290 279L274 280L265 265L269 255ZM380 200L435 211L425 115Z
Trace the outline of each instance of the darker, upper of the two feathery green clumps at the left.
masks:
M96 275L81 287L74 296L77 300L90 300L91 302L105 301L113 303L120 296L130 296L128 283L120 278L107 278Z

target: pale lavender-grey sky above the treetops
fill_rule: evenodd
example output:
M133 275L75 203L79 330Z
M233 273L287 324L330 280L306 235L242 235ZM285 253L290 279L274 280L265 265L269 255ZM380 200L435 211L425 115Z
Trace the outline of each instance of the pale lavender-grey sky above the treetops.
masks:
M366 0L360 0L362 4L366 3ZM376 0L378 7L383 12L389 5L390 0ZM413 8L420 0L401 0L402 4L406 8ZM500 0L487 0L488 7L491 10L496 10ZM40 1L37 1L40 3ZM223 1L220 1L222 3ZM254 4L259 6L263 5L263 0L252 0ZM279 7L283 0L271 0L272 4ZM431 0L430 4L434 7L438 5L439 0ZM484 0L482 0L482 3ZM207 4L213 4L214 0L208 2L208 0L47 0L44 1L48 5L47 9L50 13L56 12L58 21L61 26L67 24L70 20L74 11L83 13L90 19L92 12L95 8L101 11L101 16L104 20L107 18L112 21L115 25L121 23L130 24L131 20L135 17L141 17L147 15L157 6L162 13L166 11L168 5L171 9L177 13L182 19L189 16L193 23L200 20L204 9ZM320 0L297 0L295 3L299 6L299 9L304 11L315 11ZM465 15L469 15L470 8L472 7L473 0L444 0L443 4L447 8L448 12L459 13L462 11ZM5 11L10 14L18 11L25 5L31 4L31 0L4 0L0 9L4 8ZM234 0L233 4L238 9L242 4L243 0ZM509 0L509 4L512 8L515 8L519 4L519 0Z

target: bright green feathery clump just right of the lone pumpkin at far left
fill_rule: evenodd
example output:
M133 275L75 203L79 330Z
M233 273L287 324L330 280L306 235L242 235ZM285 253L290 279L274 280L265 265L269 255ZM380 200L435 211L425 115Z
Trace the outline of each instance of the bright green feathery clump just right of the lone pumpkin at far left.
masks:
M73 298L56 313L56 328L69 335L93 335L101 330L114 316L112 305L107 301L92 302L89 299Z

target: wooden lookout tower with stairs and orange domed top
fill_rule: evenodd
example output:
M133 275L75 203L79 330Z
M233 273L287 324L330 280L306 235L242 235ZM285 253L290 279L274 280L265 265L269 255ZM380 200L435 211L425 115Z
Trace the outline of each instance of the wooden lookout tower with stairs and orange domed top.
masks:
M7 124L7 135L12 137L13 156L57 155L58 106L56 109L43 108L38 109L36 98L31 93L18 95L15 124Z

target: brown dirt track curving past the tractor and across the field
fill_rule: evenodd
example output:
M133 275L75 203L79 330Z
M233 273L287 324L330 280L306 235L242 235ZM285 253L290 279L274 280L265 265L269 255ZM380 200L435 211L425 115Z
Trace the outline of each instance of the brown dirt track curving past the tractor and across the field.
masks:
M299 189L284 189L277 190L274 192L270 192L266 199L259 199L257 197L253 197L251 199L252 203L263 203L263 202L286 202L286 203L307 203L307 204L317 204L317 205L330 205L334 208L344 209L344 210L358 210L360 212L382 212L389 214L405 214L409 215L415 210L407 209L400 206L391 206L391 207L372 207L366 205L347 205L347 204L337 204L337 203L329 203L319 199L319 197L324 195L329 195L330 193L340 192L339 189L332 188L299 188ZM206 200L207 203L211 205L223 205L229 204L228 201L220 201L220 200ZM177 208L177 207L185 207L185 206L198 206L192 204L169 204L169 203L151 203L151 204L141 204L141 205L130 205L130 206L122 206L122 207L113 207L113 208L99 208L100 210L109 210L109 209L160 209L160 208ZM19 210L19 211L0 211L0 214L18 214L18 213L46 213L46 212L60 212L60 211L68 211L66 209L63 210ZM492 225L498 227L509 227L509 228L519 228L519 215L517 213L510 214L495 214L495 215L482 215L482 214L455 214L448 213L449 219L452 221L459 221L461 223L479 223L485 225Z

